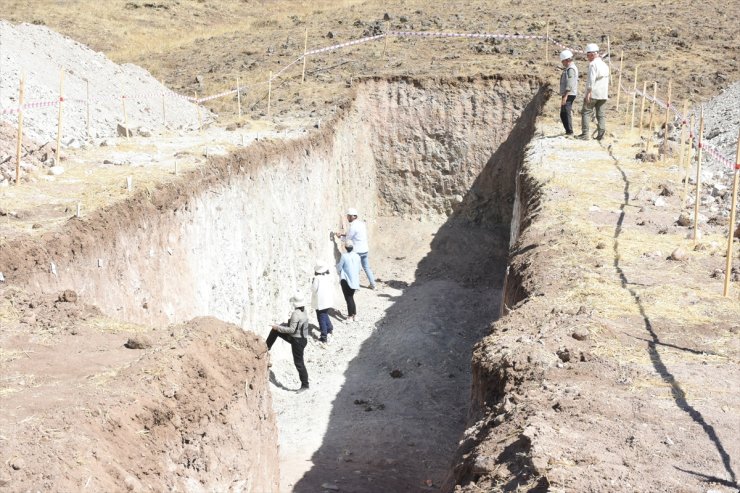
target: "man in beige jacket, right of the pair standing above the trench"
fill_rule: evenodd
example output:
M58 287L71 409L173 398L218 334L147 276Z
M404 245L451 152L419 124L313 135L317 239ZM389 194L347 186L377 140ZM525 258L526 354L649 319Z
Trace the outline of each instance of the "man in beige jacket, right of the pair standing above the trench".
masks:
M606 102L609 99L609 66L599 56L599 47L594 43L586 45L588 58L588 75L586 76L586 93L583 96L581 109L581 135L579 139L588 140L591 136L589 123L596 112L596 140L604 138L606 133Z

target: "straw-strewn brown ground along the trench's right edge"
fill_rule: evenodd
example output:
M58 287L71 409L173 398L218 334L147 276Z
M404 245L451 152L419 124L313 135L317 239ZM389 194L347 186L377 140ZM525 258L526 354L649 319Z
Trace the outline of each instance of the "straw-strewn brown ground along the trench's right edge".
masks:
M702 222L694 248L676 222L683 170L636 162L635 135L599 145L541 128L552 137L523 169L507 315L475 348L471 426L445 489L737 491L727 227Z

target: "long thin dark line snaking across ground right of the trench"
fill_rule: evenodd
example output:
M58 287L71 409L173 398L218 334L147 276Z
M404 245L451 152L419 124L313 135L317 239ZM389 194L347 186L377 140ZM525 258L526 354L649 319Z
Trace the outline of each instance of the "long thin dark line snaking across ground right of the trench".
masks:
M640 316L642 317L642 320L643 320L643 324L645 326L645 330L647 331L650 337L649 339L646 339L646 342L648 343L648 352L650 355L650 361L653 364L653 368L655 369L656 372L658 372L658 374L661 376L663 381L666 382L670 386L671 396L673 397L673 400L676 403L676 406L680 410L688 414L689 417L691 417L691 419L695 423L700 425L702 429L704 430L704 433L707 435L707 438L709 438L709 440L714 444L714 446L717 449L717 452L719 453L719 456L722 459L722 464L725 467L725 471L727 471L727 474L730 476L730 480L728 481L726 479L718 478L715 476L708 476L702 473L696 473L696 472L691 472L691 471L685 471L685 472L688 472L693 475L701 476L705 478L706 481L714 481L720 484L729 485L731 487L737 487L738 486L737 476L735 474L735 471L732 469L732 464L731 464L732 460L731 460L730 455L727 453L727 450L722 444L722 440L720 440L714 427L710 425L709 423L707 423L707 421L704 419L704 416L689 403L688 398L686 396L686 392L684 392L684 390L681 388L680 382L676 380L675 376L670 372L666 364L663 362L663 359L661 358L658 348L659 346L671 346L671 345L661 342L660 338L658 337L658 334L655 332L653 323L647 314L645 305L642 303L642 300L640 299L639 293L635 291L634 288L630 287L631 283L620 265L621 257L619 254L619 236L622 234L622 225L624 223L624 218L625 218L625 208L630 205L629 203L630 181L627 178L627 173L625 173L624 169L620 166L619 159L617 159L617 157L612 152L611 146L607 150L609 152L609 156L614 161L614 166L617 168L617 170L621 174L622 181L624 182L623 202L622 204L620 204L619 218L617 219L617 224L614 228L614 244L613 244L614 269L617 271L622 289L625 289L627 290L627 292L629 292L630 296L632 296L632 299L634 300L635 305L637 305L637 308L640 312ZM693 350L689 350L686 348L678 348L678 349L694 352ZM678 467L676 467L676 469L683 471L683 469L680 469Z

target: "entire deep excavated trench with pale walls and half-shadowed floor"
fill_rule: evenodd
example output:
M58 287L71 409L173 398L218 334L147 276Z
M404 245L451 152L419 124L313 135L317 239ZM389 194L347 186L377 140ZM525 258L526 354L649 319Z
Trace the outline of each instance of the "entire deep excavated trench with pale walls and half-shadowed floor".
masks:
M290 391L287 349L274 349L283 490L439 486L465 427L472 345L500 311L518 170L545 99L534 78L366 80L320 132L4 249L0 265L118 319L209 315L264 336L294 291L310 293L316 261L337 258L330 232L358 208L383 280L360 310L377 318L353 328L337 315L337 346L311 341L308 396Z

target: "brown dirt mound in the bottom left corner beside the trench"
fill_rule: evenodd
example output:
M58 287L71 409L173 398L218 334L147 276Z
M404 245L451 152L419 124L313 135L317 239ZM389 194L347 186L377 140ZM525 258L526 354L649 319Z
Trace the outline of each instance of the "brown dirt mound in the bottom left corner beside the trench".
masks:
M0 486L277 491L259 338L211 318L147 331L70 291L0 296Z

